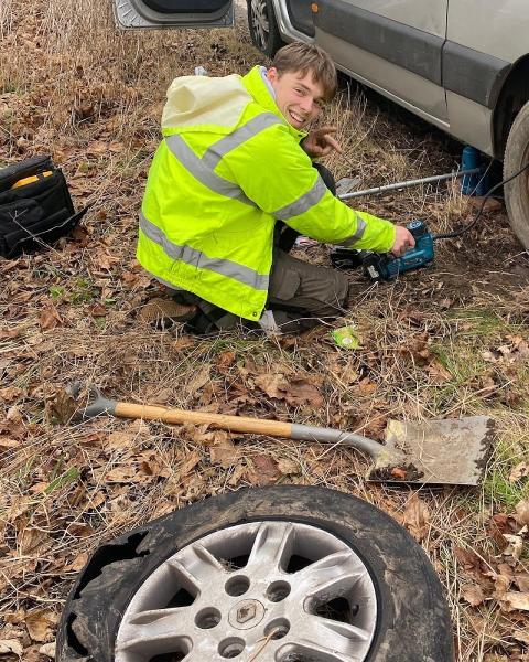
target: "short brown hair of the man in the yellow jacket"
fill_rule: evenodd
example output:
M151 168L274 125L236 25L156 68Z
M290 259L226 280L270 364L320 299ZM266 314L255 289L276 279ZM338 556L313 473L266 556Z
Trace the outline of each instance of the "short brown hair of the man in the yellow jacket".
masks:
M312 73L312 79L323 87L323 97L331 102L336 93L336 67L331 57L320 46L292 42L276 53L272 66L279 75L300 72L303 76Z

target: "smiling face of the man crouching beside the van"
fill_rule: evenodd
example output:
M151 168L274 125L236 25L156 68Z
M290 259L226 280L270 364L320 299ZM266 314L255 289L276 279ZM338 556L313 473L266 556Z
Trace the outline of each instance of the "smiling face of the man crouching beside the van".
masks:
M313 79L312 72L284 72L270 67L267 78L276 93L276 104L294 129L304 129L324 106L323 86Z

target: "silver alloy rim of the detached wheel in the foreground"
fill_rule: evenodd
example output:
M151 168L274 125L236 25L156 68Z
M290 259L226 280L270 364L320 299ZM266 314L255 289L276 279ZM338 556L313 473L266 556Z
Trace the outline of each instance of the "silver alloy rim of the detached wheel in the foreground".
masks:
M377 623L373 579L332 533L251 522L159 566L132 597L116 662L360 662Z

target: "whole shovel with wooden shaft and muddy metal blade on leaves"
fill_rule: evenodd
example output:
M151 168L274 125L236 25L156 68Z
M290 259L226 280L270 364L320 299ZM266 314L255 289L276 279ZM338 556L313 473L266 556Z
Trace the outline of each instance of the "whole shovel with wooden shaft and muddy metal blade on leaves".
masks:
M68 391L75 397L80 388L80 384L74 384ZM78 413L80 418L110 414L119 418L209 425L231 433L349 446L373 458L369 479L377 481L477 484L492 446L493 420L487 416L420 424L390 420L382 445L333 428L111 401L95 386L90 386L89 396Z

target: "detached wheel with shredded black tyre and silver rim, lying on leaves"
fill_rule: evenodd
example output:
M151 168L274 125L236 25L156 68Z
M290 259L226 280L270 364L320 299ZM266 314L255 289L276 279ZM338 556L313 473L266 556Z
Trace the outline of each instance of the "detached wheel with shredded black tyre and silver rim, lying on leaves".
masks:
M281 485L207 499L100 547L57 638L58 662L253 655L452 662L452 628L433 567L391 517Z

